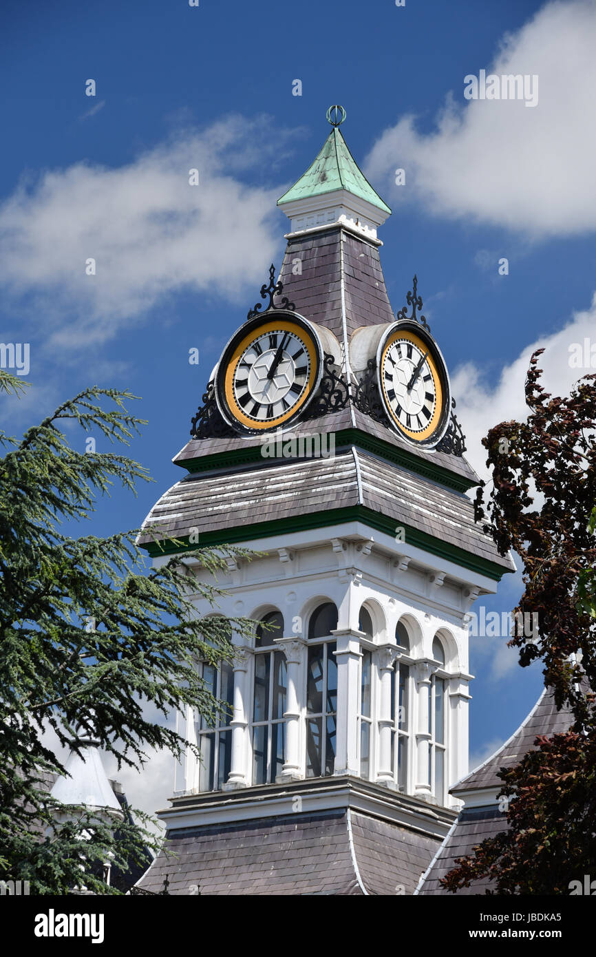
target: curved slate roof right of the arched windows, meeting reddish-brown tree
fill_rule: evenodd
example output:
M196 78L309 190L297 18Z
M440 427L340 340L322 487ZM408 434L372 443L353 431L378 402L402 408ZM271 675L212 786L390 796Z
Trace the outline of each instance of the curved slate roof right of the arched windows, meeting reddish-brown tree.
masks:
M537 735L550 736L567 731L572 721L569 711L557 710L552 692L545 688L530 714L511 738L483 764L453 785L452 793L461 793L463 797L465 792L470 790L500 788L502 781L497 777L499 768L513 768L522 755L534 747Z

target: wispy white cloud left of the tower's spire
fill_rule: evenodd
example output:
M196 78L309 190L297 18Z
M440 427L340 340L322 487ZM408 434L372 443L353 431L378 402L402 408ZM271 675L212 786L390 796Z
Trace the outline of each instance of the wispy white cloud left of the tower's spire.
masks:
M127 166L81 162L24 180L0 207L5 300L36 309L46 342L66 349L105 342L175 292L237 300L276 251L279 190L238 175L283 155L290 131L270 133L267 118L229 117Z

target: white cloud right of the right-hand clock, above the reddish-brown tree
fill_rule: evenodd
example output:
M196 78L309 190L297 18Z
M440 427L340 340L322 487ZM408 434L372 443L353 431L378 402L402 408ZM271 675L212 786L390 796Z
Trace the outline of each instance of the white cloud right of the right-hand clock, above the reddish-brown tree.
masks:
M589 309L574 313L572 320L559 332L526 345L515 362L502 369L495 386L487 383L483 369L475 363L456 369L452 389L457 400L457 416L466 435L466 457L482 479L488 478L486 450L481 445L483 436L497 423L523 420L529 412L525 404L524 383L532 353L538 348L545 349L539 358L539 367L543 369L542 385L553 395L568 395L574 382L588 372L596 372L596 354L593 367L569 365L575 351L571 350L573 345L581 347L589 362L585 340L596 345L596 293Z

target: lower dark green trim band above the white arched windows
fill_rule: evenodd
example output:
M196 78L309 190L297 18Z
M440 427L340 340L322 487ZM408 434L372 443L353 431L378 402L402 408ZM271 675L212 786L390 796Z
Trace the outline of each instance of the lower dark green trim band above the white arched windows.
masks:
M200 535L200 541L197 544L188 543L188 535L180 538L182 545L174 545L170 539L165 539L163 544L155 545L147 543L143 545L152 558L162 555L173 555L176 552L190 551L197 547L207 547L209 545L230 545L240 542L254 541L255 539L268 538L272 535L288 535L292 532L306 531L312 528L325 528L329 525L340 524L342 522L362 522L369 528L384 532L393 537L395 535L395 519L391 519L381 512L374 512L371 508L364 505L350 505L347 508L333 508L324 512L311 512L308 515L298 515L291 519L273 519L271 522L259 522L252 525L240 525L236 528L221 528L213 532L204 532ZM437 555L446 561L453 562L460 568L468 568L476 571L478 574L486 575L499 582L502 576L513 569L502 568L495 562L490 562L485 558L479 558L471 555L463 548L457 545L450 545L441 539L434 538L427 532L420 531L410 525L401 526L405 530L405 537L409 545L415 545L430 552L431 555Z

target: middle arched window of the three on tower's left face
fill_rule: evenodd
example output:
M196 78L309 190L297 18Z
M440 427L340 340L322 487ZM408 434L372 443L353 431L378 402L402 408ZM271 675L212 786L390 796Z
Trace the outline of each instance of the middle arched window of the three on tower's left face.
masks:
M283 636L283 615L268 612L254 639L253 784L269 784L283 768L286 657L274 644Z

